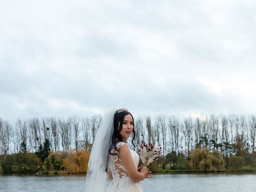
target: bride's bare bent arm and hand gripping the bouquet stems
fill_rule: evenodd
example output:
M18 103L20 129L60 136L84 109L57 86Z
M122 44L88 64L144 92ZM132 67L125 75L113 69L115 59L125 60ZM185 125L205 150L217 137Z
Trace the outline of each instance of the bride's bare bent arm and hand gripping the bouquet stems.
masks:
M130 150L127 146L127 144L124 144L123 146L120 146L119 148L119 156L122 160L122 164L130 177L131 180L138 182L142 179L147 178L148 176L148 170L146 168L142 168L140 172L137 171L137 168L134 165L132 156L130 154Z

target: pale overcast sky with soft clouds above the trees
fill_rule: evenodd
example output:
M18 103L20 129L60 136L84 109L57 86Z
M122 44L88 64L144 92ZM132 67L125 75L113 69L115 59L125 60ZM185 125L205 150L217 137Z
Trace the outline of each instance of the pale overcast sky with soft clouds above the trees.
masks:
M253 0L2 0L0 118L252 114Z

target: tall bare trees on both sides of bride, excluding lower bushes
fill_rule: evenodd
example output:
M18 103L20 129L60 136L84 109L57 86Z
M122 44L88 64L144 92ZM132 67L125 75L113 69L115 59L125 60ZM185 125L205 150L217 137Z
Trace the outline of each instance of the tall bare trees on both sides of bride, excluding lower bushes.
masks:
M74 149L90 150L102 116L72 116L69 118L18 119L13 126L0 119L0 154L38 152L46 140L50 150L69 152ZM218 150L223 157L255 152L256 116L210 115L180 117L158 115L138 116L134 122L136 132L134 150L142 140L151 138L162 147L163 156L171 152L188 156L196 147ZM131 142L129 139L128 142Z

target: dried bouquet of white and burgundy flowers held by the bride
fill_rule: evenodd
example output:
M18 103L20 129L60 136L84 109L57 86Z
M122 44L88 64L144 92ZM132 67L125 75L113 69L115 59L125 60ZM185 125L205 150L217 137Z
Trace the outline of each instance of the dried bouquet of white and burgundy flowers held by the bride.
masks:
M140 143L139 154L143 166L148 166L150 163L154 162L158 159L158 156L162 153L162 149L158 149L158 146L154 146L150 140L148 140L148 144L145 141Z

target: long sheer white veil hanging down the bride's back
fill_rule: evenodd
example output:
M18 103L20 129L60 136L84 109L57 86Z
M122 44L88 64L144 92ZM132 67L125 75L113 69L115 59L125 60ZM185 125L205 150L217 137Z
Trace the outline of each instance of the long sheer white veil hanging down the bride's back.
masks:
M106 164L110 161L108 150L112 144L115 112L116 109L108 111L100 122L88 162L86 192L104 192L107 179L105 169Z

